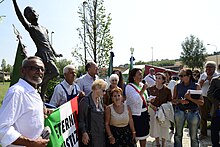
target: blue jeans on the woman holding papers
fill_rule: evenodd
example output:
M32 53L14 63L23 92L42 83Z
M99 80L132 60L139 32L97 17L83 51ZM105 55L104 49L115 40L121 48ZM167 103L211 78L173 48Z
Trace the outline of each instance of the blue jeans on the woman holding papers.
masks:
M199 140L197 136L198 127L201 119L199 110L185 112L177 108L174 113L174 118L175 118L174 147L182 147L183 127L185 121L187 121L189 127L191 147L199 147Z

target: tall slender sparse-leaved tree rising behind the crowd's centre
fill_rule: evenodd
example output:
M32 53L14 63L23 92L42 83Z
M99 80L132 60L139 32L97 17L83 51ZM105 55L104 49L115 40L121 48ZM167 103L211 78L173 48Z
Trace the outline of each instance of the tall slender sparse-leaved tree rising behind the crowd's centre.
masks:
M87 60L93 60L99 67L107 66L113 37L110 34L111 14L105 14L103 0L86 0L79 7L79 18L82 27L78 28L80 45L72 52L76 60L85 64L84 43ZM85 36L84 36L85 27ZM86 39L85 39L86 38Z

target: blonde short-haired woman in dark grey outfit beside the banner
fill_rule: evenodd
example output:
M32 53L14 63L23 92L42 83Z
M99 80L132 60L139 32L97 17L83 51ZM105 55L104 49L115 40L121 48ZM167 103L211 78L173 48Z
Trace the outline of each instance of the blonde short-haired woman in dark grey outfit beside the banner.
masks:
M81 147L105 147L104 108L102 97L107 83L98 79L92 92L79 103L79 142Z

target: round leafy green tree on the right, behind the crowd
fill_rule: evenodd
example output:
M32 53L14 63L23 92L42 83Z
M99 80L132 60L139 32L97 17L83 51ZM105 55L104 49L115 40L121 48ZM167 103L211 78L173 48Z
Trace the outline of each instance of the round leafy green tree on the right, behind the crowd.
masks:
M181 52L180 61L187 65L189 68L203 69L204 62L206 61L207 53L203 45L203 41L194 35L185 38L181 44L183 51Z

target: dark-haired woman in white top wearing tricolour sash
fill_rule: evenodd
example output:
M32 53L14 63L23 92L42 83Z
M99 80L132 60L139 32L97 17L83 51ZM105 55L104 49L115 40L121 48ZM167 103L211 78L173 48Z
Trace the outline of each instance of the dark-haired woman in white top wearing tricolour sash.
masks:
M147 84L143 84L142 70L133 68L129 72L128 85L125 88L127 105L131 108L131 113L136 130L136 140L140 141L140 146L146 146L146 138L149 134L149 114L147 109Z

